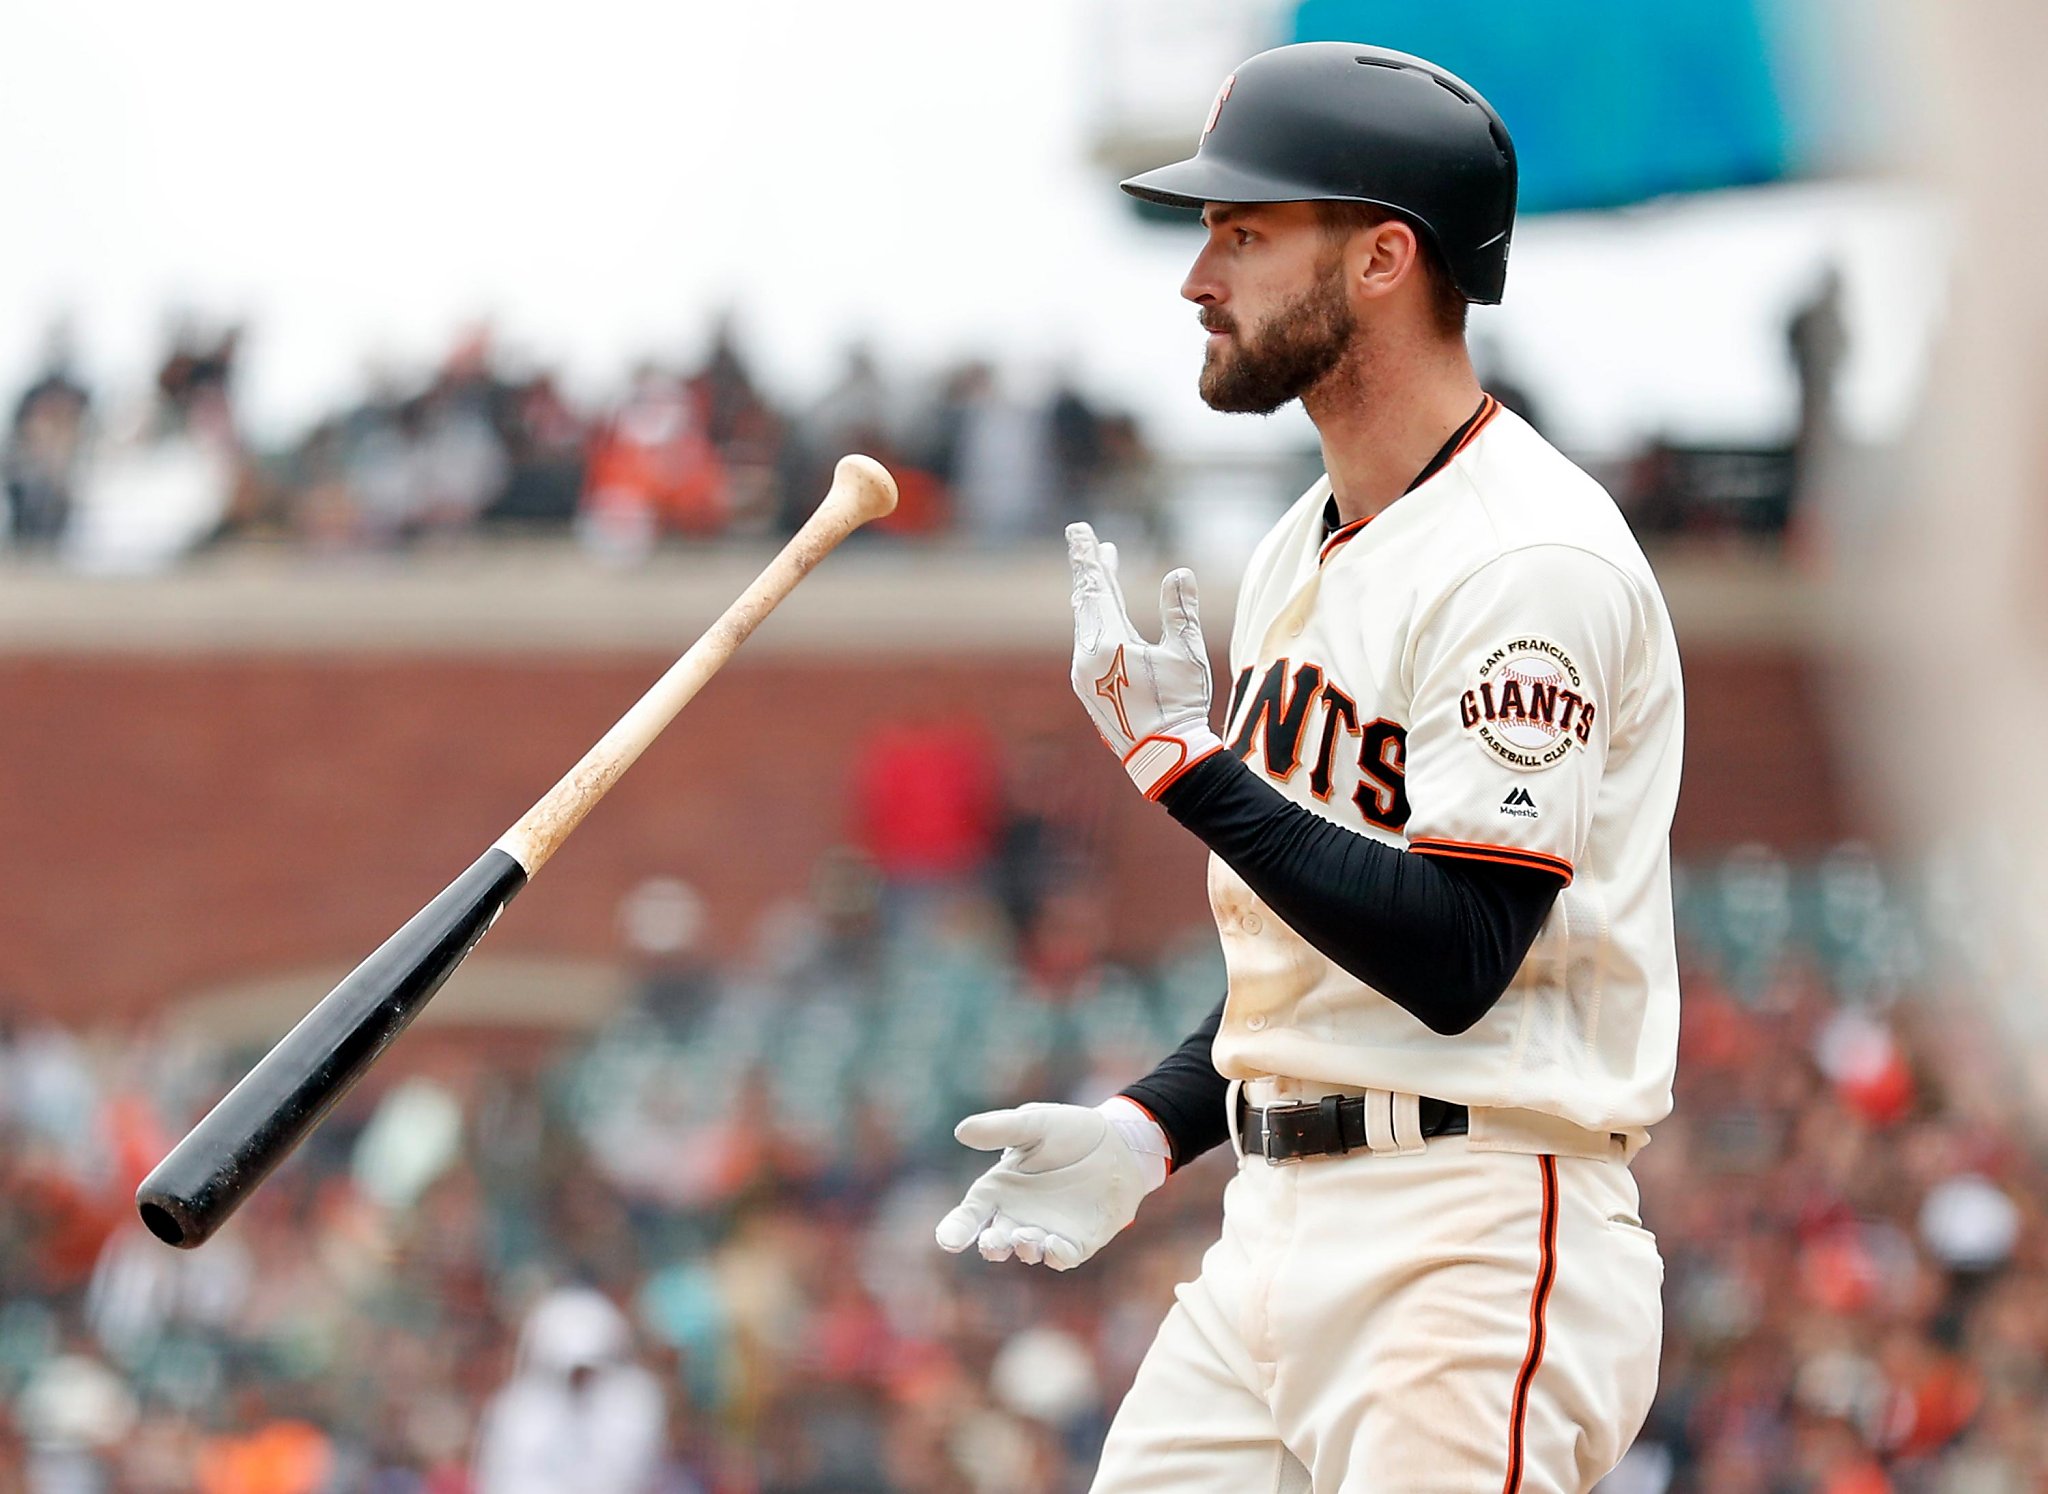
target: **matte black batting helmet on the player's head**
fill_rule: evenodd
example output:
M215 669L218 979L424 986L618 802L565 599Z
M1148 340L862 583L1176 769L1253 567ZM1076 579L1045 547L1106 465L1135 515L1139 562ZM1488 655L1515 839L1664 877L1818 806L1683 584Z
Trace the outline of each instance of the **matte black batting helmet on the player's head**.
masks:
M1507 281L1507 125L1477 88L1405 51L1262 51L1223 80L1194 156L1122 189L1167 207L1374 203L1427 236L1464 299L1491 305Z

